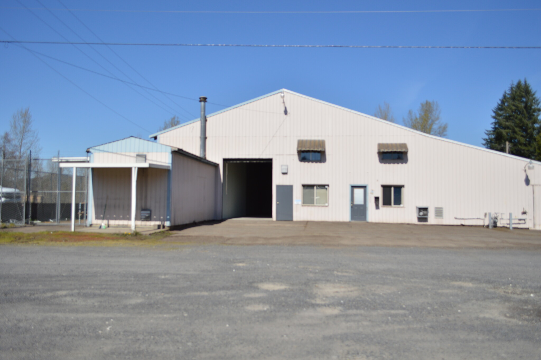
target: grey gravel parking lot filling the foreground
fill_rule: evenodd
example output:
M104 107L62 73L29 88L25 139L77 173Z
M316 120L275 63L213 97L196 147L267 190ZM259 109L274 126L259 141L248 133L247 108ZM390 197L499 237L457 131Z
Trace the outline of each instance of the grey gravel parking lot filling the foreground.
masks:
M539 359L540 256L539 247L1 246L0 357Z

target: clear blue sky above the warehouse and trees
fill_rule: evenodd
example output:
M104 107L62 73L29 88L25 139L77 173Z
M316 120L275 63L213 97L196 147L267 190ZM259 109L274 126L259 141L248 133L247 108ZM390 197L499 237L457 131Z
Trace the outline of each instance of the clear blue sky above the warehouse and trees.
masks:
M28 8L61 9L57 0L2 0L0 27L19 41L64 41ZM200 11L477 10L541 8L539 1L74 1L69 9ZM23 8L23 9L8 9ZM47 10L32 10L69 41L81 41ZM68 11L52 10L87 42L97 38ZM340 44L539 46L541 11L396 12L348 14L202 14L74 11L105 42L221 44ZM12 40L0 31L0 40ZM128 80L88 45L25 45L62 61ZM149 86L104 46L108 61ZM425 100L440 104L448 138L481 145L492 108L512 81L526 78L541 95L541 50L494 49L299 49L113 47L158 89L191 98L207 96L227 106L280 88L366 114L391 104L398 123ZM83 93L27 50L0 47L0 132L11 115L30 107L41 138L41 156L84 155L90 146L135 135L148 138L173 114L199 117L199 103L156 94L161 107L125 84L43 57ZM180 107L187 110L184 111ZM171 109L172 108L172 109ZM208 112L223 107L209 104ZM190 113L190 114L188 114ZM143 130L147 129L147 130Z

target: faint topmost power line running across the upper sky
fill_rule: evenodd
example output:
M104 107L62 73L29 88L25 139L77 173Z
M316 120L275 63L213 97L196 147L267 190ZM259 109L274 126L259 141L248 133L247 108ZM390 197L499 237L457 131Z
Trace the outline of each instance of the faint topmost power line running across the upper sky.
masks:
M21 10L12 6L0 6L0 9ZM32 10L45 10L31 8ZM344 11L198 11L198 10L111 10L111 9L50 9L58 11L96 11L96 12L163 12L177 14L397 14L423 12L500 12L500 11L536 11L539 9L472 9L472 10L344 10Z

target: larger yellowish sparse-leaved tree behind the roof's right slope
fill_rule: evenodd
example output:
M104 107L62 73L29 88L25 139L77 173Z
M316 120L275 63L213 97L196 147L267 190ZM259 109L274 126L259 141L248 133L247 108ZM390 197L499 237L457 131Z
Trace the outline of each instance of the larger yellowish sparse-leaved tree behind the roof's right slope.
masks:
M421 102L419 112L408 111L404 118L404 125L420 132L440 136L447 136L447 123L440 122L441 110L437 101Z

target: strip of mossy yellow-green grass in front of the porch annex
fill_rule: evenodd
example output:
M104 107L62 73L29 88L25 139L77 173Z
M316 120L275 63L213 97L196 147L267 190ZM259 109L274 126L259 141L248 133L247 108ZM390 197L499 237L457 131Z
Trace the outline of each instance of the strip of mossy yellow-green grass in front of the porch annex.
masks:
M68 231L0 232L0 245L156 246L168 244L162 241L168 235L167 231L150 235L138 232L123 234Z

